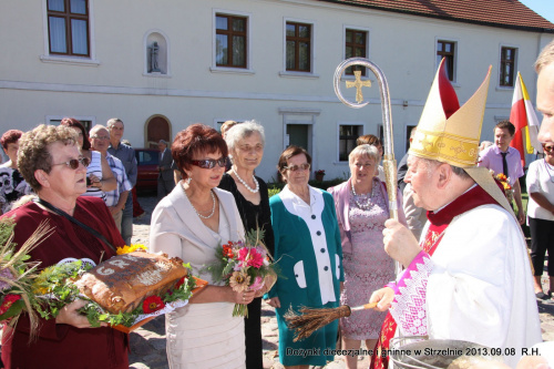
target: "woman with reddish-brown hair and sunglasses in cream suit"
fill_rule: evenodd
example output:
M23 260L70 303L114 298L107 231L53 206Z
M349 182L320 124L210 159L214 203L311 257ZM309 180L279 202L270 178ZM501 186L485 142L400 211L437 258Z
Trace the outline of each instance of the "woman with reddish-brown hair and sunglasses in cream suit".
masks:
M245 368L244 319L233 317L233 308L252 303L254 291L236 293L205 268L218 246L244 239L235 198L217 188L227 145L214 129L193 124L177 133L172 156L184 180L154 209L150 247L191 263L193 274L209 284L166 315L170 368Z

